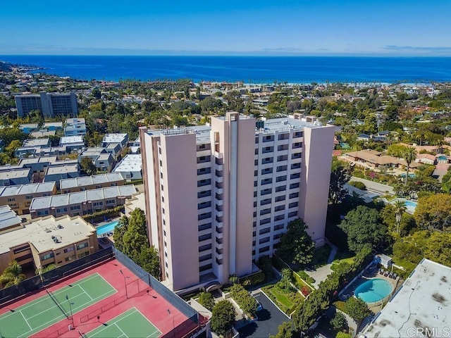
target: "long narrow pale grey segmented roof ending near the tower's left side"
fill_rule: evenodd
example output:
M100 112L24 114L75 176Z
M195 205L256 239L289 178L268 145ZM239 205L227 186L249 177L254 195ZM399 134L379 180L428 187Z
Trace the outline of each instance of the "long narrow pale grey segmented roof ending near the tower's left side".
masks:
M69 194L37 197L32 199L30 210L41 210L51 207L69 206L71 204L81 204L86 201L103 201L113 199L118 196L130 198L137 194L135 186L122 185L118 187L106 187L101 189L89 189L84 192L71 192Z

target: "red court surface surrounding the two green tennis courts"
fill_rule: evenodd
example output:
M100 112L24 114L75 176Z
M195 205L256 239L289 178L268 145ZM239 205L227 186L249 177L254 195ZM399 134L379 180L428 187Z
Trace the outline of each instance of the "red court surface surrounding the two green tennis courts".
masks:
M148 284L138 279L138 276L133 274L128 268L125 268L116 259L100 263L93 268L58 280L47 289L55 293L58 292L58 289L70 287L71 283L75 284L75 282L96 273L111 284L111 287L116 289L117 292L106 296L106 298L101 299L87 308L74 311L73 318L64 318L58 323L32 334L31 337L78 338L82 334L86 334L104 325L104 323L109 322L109 320L116 318L131 308L136 308L147 320L158 328L162 333L161 337L172 337L175 333L175 331L173 332L174 327L178 327L179 325L185 326L186 330L180 330L181 327L178 327L176 331L178 337L183 337L197 327L197 324L188 320L187 316L181 313L178 308L164 299L152 287L149 287ZM125 283L127 284L126 287ZM42 296L49 296L45 289L30 296L25 296L23 299L10 303L8 306L4 306L0 309L0 315L8 312L12 313L15 308L24 306ZM76 304L73 306L75 307ZM75 325L75 330L69 330L69 325L72 324ZM182 332L183 334L181 334Z

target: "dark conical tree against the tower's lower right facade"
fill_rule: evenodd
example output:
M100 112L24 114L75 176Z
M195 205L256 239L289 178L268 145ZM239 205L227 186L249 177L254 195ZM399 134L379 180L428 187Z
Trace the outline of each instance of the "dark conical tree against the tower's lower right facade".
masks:
M301 218L288 223L288 230L280 237L277 254L284 261L307 265L313 259L315 243L307 234L307 225Z

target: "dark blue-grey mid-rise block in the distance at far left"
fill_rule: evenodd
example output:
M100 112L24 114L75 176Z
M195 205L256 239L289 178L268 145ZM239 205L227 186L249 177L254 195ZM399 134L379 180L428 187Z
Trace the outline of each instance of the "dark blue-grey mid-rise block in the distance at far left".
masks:
M58 115L76 116L78 114L77 97L74 92L41 92L39 95L16 95L14 99L20 117L28 115L30 111L40 111L44 118L54 118Z

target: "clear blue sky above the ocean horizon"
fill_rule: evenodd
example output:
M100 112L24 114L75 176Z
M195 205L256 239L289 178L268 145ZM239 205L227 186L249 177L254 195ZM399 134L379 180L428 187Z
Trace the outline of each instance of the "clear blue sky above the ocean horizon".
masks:
M451 56L450 0L2 1L0 55Z

